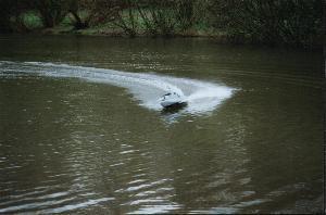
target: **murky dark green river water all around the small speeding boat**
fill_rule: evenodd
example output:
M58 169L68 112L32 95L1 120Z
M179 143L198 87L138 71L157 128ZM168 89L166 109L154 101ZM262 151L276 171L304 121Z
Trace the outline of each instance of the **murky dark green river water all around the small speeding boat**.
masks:
M322 84L319 52L0 36L0 214L322 212Z

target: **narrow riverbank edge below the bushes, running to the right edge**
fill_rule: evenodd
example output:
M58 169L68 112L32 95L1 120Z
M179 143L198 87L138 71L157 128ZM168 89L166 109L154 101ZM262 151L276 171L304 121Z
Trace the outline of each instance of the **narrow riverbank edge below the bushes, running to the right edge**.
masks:
M37 22L35 20L29 20L29 22ZM27 23L26 26L29 28L18 29L13 31L14 34L26 34L26 35L80 35L80 36L104 36L104 37L124 37L124 38L135 38L135 37L148 37L148 38L211 38L218 43L229 43L229 45L256 45L256 46L267 46L267 47L289 47L289 48L300 48L300 49L322 49L323 38L313 39L312 43L286 43L286 42L262 42L252 40L250 37L239 36L231 37L228 33L217 30L216 28L205 26L203 24L195 25L192 28L186 30L176 30L171 34L155 33L151 34L147 29L138 27L137 34L130 35L126 30L118 27L114 23L105 23L95 26L89 26L83 29L76 29L70 20L63 21L60 25L51 28L43 28L39 23Z

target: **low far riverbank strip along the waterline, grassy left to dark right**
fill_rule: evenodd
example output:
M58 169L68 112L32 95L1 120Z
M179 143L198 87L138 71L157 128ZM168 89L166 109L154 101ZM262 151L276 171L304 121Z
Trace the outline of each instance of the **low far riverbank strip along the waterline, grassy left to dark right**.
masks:
M117 22L106 22L102 24L89 25L83 28L76 28L75 21L71 16L65 16L63 21L53 26L45 27L41 18L35 13L25 13L21 20L21 24L12 24L16 26L12 28L13 34L26 34L26 35L80 35L80 36L105 36L105 37L148 37L148 38L212 38L218 43L230 43L230 45L258 45L258 46L272 46L272 47L290 47L290 48L303 48L303 49L322 49L323 37L314 36L310 39L310 42L298 43L294 41L263 41L255 40L250 35L231 35L228 31L223 31L213 27L212 25L200 22L193 24L187 29L180 29L175 27L170 31L153 30L150 31L143 23L138 20L137 26L134 27L133 31L127 30L126 27L122 27Z

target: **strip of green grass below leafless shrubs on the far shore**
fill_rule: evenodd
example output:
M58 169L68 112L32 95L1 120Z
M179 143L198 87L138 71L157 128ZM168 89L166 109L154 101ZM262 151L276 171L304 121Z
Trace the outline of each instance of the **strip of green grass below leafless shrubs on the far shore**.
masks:
M87 28L76 29L74 18L70 15L51 28L46 28L42 25L41 18L35 12L22 14L23 29L17 29L22 34L43 34L43 35L83 35L83 36L109 36L109 37L211 37L220 42L228 42L226 34L209 26L206 23L197 23L188 29L177 29L168 35L149 33L141 18L137 21L137 31L130 36L114 22L91 25ZM127 21L125 21L127 23ZM244 41L243 41L244 42Z

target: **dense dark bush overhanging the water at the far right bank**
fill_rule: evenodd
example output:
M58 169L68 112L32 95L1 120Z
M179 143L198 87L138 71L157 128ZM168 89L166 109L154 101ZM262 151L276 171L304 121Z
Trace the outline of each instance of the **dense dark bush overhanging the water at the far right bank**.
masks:
M231 40L303 45L322 34L322 0L220 0L210 8L213 26Z

